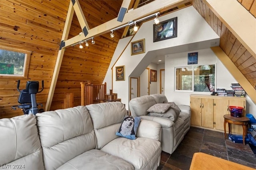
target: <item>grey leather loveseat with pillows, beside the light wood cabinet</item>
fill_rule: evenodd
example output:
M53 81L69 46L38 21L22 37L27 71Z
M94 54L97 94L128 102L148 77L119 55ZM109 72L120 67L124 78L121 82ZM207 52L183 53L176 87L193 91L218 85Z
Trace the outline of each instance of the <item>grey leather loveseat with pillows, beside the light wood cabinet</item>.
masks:
M129 102L131 115L140 116L141 119L155 121L162 127L161 146L164 152L172 154L178 147L184 135L190 129L190 106L178 105L180 113L171 120L166 116L168 113L162 113L158 116L150 114L147 110L155 104L168 104L167 98L163 94L152 94L134 98ZM153 116L152 116L153 115ZM163 116L163 117L161 117Z

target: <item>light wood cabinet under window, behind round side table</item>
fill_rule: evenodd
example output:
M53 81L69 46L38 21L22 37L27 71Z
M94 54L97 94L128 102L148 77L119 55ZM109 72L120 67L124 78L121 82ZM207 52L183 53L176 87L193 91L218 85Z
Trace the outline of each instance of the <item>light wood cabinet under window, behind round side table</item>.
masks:
M190 95L191 125L224 131L223 116L230 114L229 106L244 107L243 116L245 116L246 98ZM242 134L242 130L239 125L231 125L232 133Z

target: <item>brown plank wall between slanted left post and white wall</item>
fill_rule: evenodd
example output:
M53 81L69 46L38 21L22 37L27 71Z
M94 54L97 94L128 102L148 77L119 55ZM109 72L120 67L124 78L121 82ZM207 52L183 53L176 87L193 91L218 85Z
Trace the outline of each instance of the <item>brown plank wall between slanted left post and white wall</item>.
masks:
M122 1L113 0L79 1L79 3L90 28L116 18L122 5ZM104 83L103 80L123 30L114 31L114 38L110 37L110 32L95 37L95 44L93 45L89 40L88 47L82 44L83 49L79 48L79 44L66 49L50 110L63 108L64 92L73 92L74 106L80 105L80 82ZM80 32L82 29L74 14L68 38Z

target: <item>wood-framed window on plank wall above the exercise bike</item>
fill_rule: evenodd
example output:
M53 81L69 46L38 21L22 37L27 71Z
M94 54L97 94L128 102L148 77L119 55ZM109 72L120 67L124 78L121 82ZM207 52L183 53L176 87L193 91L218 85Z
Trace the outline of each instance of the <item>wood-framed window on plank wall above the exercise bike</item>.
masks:
M0 77L27 78L30 51L0 47Z

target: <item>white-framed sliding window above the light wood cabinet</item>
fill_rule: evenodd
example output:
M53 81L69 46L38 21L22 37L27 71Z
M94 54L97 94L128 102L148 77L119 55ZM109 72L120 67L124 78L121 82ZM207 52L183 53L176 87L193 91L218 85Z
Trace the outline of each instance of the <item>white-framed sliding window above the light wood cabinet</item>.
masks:
M176 90L214 92L215 64L176 68Z

